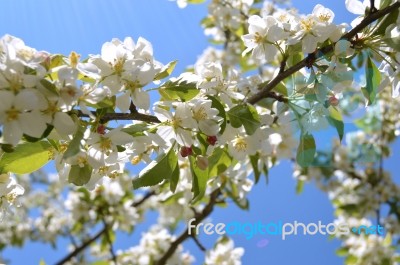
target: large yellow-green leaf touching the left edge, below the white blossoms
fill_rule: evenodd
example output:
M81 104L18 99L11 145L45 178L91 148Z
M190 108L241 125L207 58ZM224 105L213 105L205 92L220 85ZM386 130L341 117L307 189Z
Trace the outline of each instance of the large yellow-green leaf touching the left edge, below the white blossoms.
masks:
M0 170L16 174L28 174L46 165L52 159L52 145L47 141L17 145L12 153L4 153Z

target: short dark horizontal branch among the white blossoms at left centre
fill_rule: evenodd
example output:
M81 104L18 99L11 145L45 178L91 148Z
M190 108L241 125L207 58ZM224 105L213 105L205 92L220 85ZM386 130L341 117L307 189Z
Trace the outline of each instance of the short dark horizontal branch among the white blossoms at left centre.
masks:
M75 110L75 113L78 115L78 117L81 118L89 118L89 115L83 113L81 110ZM92 114L94 116L97 116L97 113L95 111L92 111ZM100 122L101 123L106 123L108 121L117 121L117 120L125 120L125 121L144 121L144 122L150 122L150 123L160 123L161 121L156 117L152 115L147 115L139 112L132 112L132 113L106 113L102 117L100 117Z

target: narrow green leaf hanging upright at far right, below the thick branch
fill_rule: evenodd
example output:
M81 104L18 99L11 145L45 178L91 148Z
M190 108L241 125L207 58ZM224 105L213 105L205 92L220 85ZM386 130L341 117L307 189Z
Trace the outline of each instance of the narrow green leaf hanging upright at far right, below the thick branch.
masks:
M367 58L367 63L365 64L365 76L367 85L363 89L363 93L367 99L367 106L369 106L375 102L378 87L381 82L381 74L370 57Z

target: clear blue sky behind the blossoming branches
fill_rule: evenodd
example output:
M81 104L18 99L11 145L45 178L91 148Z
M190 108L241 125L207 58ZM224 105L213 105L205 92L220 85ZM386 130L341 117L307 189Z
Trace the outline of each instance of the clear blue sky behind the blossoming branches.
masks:
M293 6L301 12L311 12L321 3L334 10L335 22L350 22L353 18L343 1L294 0ZM69 54L76 51L85 58L100 53L101 46L111 38L123 39L142 36L153 44L155 58L163 63L178 60L175 74L193 64L207 47L206 37L199 21L206 15L206 5L189 6L180 10L167 0L7 0L1 2L0 35L6 33L22 38L38 50ZM330 135L333 135L330 133ZM324 137L325 138L325 137ZM323 141L321 141L323 142ZM394 168L394 163L389 162ZM295 194L292 165L285 162L270 172L268 186L261 180L250 194L250 210L243 212L233 206L217 209L212 215L217 222L316 222L329 223L333 210L326 194L313 185L306 185L302 195ZM149 219L153 219L153 215ZM145 224L146 226L148 224ZM142 230L143 227L140 230ZM129 247L137 242L139 233L132 237L122 236L118 247ZM342 264L334 251L338 241L323 236L298 236L282 241L277 237L266 238L269 243L257 246L259 240L234 237L235 244L245 248L244 264ZM215 237L200 237L211 247ZM203 254L192 241L185 245L201 264ZM42 244L27 244L23 249L8 249L4 256L11 264L38 264L44 258L52 264L66 253L65 242L57 250ZM27 258L29 261L27 263Z

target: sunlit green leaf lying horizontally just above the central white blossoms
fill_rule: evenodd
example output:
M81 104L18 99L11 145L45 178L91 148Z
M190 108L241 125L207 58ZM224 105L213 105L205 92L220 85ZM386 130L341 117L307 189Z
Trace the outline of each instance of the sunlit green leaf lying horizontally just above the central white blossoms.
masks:
M195 82L188 82L181 79L173 82L165 82L160 89L158 89L158 91L165 100L169 101L177 99L188 101L200 93L200 90L197 89Z

